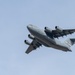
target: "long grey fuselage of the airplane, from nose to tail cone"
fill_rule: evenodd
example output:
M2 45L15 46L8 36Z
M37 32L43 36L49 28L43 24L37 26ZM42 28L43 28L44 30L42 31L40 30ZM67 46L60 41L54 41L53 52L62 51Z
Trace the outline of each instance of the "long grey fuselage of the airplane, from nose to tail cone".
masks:
M61 43L58 39L47 36L44 30L33 25L28 25L27 28L30 33L44 46L52 47L62 51L70 51L70 48L66 44Z

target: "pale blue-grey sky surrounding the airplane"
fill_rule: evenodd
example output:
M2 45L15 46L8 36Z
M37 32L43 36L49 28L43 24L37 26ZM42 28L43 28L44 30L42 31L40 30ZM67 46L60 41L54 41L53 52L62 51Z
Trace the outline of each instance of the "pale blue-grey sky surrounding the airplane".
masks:
M74 75L75 46L72 53L42 47L25 54L28 24L75 28L75 0L0 0L0 75Z

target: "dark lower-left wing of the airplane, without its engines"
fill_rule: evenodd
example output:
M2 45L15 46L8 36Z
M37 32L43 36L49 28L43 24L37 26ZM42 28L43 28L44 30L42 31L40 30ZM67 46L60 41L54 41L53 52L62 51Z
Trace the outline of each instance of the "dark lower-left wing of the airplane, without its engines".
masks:
M37 40L37 39L34 39L32 42L31 42L31 44L30 44L30 46L28 47L28 49L26 50L26 52L25 53L30 53L31 51L33 51L33 50L36 50L38 47L40 47L42 44L41 43L39 43L39 41Z

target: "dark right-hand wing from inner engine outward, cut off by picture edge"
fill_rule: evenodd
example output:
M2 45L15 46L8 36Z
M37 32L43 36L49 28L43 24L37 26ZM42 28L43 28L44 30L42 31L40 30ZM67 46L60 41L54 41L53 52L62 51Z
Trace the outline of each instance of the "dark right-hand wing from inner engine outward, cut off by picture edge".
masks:
M55 38L66 36L66 35L72 34L74 32L75 32L75 29L65 29L65 30L62 30L62 31L59 31L59 32L57 30L52 31L53 36Z

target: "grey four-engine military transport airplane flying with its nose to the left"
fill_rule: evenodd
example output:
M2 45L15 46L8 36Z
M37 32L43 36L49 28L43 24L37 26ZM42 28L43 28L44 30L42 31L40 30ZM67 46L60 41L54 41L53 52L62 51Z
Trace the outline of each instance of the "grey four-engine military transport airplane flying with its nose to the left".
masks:
M30 43L28 40L24 40L24 43L29 45L25 52L26 54L29 54L42 45L65 52L72 52L70 47L74 45L75 38L69 38L64 43L60 42L58 38L74 33L75 29L62 29L59 26L55 26L54 30L49 27L45 27L44 30L42 30L32 24L27 25L27 29L31 33L28 37L33 41Z

